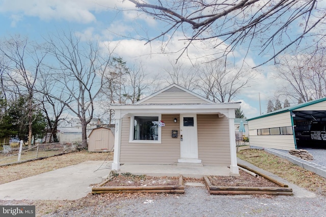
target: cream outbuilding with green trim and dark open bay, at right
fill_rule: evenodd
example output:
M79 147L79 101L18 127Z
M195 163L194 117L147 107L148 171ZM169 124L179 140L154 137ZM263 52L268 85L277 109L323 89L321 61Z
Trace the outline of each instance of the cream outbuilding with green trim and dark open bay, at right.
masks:
M290 150L326 148L326 98L248 119L250 145Z

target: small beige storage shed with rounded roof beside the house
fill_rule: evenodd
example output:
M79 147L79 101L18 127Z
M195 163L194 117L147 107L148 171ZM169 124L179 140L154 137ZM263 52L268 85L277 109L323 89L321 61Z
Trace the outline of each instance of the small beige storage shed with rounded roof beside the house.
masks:
M114 134L111 128L99 127L92 130L88 150L92 152L108 152L114 148Z

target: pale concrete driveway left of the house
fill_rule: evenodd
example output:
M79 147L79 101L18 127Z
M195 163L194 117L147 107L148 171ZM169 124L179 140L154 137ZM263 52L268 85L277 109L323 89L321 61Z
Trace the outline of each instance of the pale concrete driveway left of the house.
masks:
M83 198L92 191L90 184L100 183L108 176L111 171L105 167L108 163L110 162L103 164L103 161L87 161L1 184L0 200L76 200Z

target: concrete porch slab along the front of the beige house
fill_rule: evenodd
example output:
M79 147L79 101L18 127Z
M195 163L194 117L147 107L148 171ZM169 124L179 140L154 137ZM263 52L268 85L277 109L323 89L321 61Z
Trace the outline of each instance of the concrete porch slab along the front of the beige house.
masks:
M134 175L149 176L179 176L202 178L204 175L230 175L230 168L227 166L202 166L202 167L179 167L177 165L143 165L124 164L120 166L122 173L130 172Z

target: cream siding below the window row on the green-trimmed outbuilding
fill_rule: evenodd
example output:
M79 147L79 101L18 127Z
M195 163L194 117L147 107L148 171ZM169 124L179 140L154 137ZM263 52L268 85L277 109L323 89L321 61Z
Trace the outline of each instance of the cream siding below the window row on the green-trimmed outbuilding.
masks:
M250 145L282 150L294 149L293 135L250 136Z

